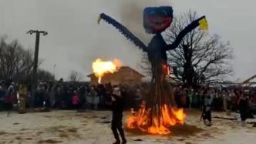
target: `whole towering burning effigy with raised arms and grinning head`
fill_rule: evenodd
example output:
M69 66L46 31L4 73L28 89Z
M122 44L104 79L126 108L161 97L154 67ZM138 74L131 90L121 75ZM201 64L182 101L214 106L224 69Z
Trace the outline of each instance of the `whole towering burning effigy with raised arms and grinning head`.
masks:
M173 98L173 92L167 82L169 75L169 66L167 65L167 51L176 49L187 33L198 26L202 30L207 30L207 20L202 16L187 25L184 30L177 35L172 44L167 44L161 32L165 31L173 22L173 8L170 6L149 7L143 12L143 26L147 33L153 34L149 45L145 45L132 32L130 32L120 22L102 13L99 15L99 22L103 19L105 22L113 25L127 39L133 42L137 47L147 52L151 63L152 79L150 95L146 101L140 105L138 112L132 112L127 119L126 127L128 129L140 129L153 135L170 134L170 126L184 124L184 109L177 109Z

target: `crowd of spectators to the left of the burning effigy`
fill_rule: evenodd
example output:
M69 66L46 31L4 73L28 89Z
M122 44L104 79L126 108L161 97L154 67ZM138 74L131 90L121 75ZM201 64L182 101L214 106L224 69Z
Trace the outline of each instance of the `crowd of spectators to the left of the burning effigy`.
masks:
M0 110L19 105L20 113L25 108L47 109L108 109L113 87L120 87L126 108L135 106L142 99L139 87L129 85L86 85L78 82L38 82L32 92L32 85L15 82L0 82ZM134 100L134 101L133 101Z

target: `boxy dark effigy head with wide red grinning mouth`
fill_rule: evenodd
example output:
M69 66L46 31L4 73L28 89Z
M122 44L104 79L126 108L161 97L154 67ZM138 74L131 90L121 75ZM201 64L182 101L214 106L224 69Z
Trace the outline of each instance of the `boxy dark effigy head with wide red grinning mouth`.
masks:
M171 6L148 7L143 12L143 26L147 33L163 32L173 22L173 8Z

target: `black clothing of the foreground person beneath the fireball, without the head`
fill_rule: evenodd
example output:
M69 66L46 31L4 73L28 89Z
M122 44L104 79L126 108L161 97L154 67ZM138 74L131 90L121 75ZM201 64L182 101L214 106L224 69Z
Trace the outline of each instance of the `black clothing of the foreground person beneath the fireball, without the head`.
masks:
M117 95L113 95L116 99L112 102L112 122L111 122L111 129L113 131L113 135L116 139L116 142L120 142L120 138L118 136L117 130L120 132L120 136L123 141L126 141L123 128L122 128L122 119L123 119L123 98Z

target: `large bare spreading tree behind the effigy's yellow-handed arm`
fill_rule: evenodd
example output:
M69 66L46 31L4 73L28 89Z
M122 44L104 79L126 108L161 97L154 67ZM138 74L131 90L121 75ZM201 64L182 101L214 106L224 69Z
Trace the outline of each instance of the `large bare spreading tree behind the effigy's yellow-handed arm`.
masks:
M192 11L174 18L172 26L163 33L163 38L167 43L172 43L179 32L195 19L197 12ZM229 42L222 42L220 35L212 35L200 29L194 29L184 37L177 49L167 53L168 63L175 75L170 79L186 85L217 81L233 72L228 63L233 59L233 49ZM150 69L145 56L142 63L141 68L146 71Z

